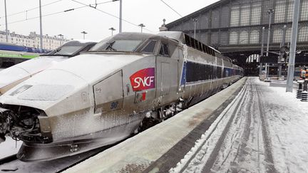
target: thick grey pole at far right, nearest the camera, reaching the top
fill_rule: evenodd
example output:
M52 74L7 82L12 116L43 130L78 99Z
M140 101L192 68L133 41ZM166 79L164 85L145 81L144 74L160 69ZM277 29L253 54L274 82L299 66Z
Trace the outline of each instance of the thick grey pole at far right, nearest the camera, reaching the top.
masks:
M288 64L288 75L287 75L287 88L286 92L293 91L293 78L294 78L294 63L295 63L295 52L297 47L297 27L299 19L299 2L300 0L294 1L294 12L293 12L293 23L292 23L292 39L289 51L289 64Z

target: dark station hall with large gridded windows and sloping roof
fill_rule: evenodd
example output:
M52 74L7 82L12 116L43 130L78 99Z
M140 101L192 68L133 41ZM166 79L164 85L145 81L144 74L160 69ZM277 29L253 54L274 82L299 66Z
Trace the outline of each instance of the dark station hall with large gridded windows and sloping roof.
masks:
M270 14L270 51L278 52L285 34L285 46L289 45L294 1L292 0L221 0L193 14L168 23L169 31L184 31L203 43L217 48L235 63L257 74L262 42L262 27L265 27L264 42L267 44ZM195 23L195 19L197 22ZM308 0L301 0L299 11L297 63L308 62ZM270 53L269 56L277 57ZM301 62L299 62L299 60ZM250 69L251 68L251 69Z

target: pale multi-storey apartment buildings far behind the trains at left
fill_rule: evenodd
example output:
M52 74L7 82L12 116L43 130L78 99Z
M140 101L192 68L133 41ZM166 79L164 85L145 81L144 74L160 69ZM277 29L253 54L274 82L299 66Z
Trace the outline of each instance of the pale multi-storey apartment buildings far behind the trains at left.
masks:
M63 45L63 43L66 41L68 40L61 36L48 36L48 34L46 34L43 36L43 48L52 50ZM0 42L6 42L5 31L0 31ZM29 36L24 36L15 32L9 32L9 43L32 48L40 48L41 40L40 35L36 34L36 32L31 32Z

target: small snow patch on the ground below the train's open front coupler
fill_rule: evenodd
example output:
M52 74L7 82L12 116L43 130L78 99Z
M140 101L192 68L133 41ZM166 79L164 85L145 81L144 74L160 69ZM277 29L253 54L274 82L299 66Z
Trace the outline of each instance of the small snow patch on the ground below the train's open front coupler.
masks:
M16 154L21 147L22 142L13 140L11 137L6 137L5 142L0 143L0 159Z

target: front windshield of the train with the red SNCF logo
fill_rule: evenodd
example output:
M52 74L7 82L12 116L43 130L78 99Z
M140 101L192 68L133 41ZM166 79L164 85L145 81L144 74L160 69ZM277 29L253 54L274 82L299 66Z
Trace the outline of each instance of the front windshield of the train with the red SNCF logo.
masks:
M90 51L127 51L133 52L143 40L111 40L101 41Z

